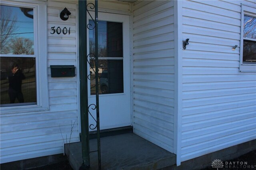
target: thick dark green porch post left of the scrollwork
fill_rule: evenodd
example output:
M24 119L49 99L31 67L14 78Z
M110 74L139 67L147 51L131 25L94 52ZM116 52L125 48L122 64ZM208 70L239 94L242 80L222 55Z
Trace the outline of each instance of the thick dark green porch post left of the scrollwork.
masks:
M79 74L80 74L80 119L83 163L80 170L90 167L88 87L87 87L87 34L86 0L78 1L79 24Z

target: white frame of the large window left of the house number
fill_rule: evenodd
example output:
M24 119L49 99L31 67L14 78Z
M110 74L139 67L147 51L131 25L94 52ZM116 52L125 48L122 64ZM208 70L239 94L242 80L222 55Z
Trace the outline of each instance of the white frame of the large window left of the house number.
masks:
M43 1L1 1L1 5L34 9L34 56L36 57L36 105L0 107L1 114L49 110L47 70L47 8ZM40 48L39 48L40 47ZM18 57L18 55L0 55ZM23 55L20 55L21 57ZM23 56L24 57L24 56Z

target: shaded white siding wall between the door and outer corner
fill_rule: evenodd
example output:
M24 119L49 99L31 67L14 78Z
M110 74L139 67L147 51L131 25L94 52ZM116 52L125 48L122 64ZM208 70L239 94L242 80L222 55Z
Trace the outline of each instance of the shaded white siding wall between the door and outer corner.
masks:
M134 4L134 133L173 152L173 1Z

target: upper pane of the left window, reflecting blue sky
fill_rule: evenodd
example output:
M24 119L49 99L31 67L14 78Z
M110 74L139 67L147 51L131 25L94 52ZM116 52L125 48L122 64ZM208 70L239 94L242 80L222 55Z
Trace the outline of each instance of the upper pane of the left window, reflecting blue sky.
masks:
M1 54L34 54L33 8L1 5Z

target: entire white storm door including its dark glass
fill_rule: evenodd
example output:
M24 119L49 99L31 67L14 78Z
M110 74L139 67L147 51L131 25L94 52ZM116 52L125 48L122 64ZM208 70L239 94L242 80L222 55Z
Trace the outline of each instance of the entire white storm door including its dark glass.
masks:
M94 16L92 16L94 18ZM98 14L98 77L96 84L95 28L88 18L88 105L95 103L96 86L99 87L100 129L131 125L130 90L130 29L129 16L109 13ZM89 57L88 57L89 60ZM93 117L96 110L89 108ZM90 131L96 130L96 121L89 115Z

